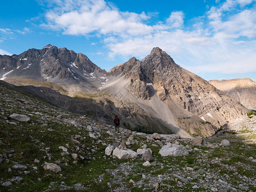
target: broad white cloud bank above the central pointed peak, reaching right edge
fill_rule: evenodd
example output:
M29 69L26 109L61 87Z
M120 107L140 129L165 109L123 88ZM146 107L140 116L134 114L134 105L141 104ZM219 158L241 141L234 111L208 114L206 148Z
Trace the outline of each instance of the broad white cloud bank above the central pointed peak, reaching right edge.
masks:
M150 14L121 12L104 0L55 0L41 26L67 35L100 36L111 58L142 58L158 46L193 72L256 72L256 6L250 6L255 0L216 3L188 29L182 11L149 25Z

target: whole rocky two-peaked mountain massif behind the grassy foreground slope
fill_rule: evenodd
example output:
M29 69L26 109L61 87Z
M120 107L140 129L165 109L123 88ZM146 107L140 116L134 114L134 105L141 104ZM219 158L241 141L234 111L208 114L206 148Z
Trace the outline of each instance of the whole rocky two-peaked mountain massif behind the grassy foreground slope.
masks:
M19 56L0 56L0 67L4 81L47 86L85 99L74 100L32 87L23 88L25 92L69 111L95 114L101 121L118 114L124 127L137 131L211 136L227 121L248 112L236 100L175 64L158 47L143 60L133 57L108 73L85 55L52 45L29 49ZM87 93L93 95L88 97Z

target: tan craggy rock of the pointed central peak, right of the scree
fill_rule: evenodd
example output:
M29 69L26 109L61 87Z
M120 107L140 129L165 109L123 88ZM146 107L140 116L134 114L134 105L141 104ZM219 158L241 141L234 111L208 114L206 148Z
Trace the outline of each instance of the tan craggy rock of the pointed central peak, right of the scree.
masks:
M202 127L202 120L220 127L248 113L239 102L177 65L158 47L141 61L131 58L111 74L125 76L127 88L138 98L150 100L156 95L168 106L176 125L191 133L198 132L196 127ZM209 136L213 129L208 126L199 132Z

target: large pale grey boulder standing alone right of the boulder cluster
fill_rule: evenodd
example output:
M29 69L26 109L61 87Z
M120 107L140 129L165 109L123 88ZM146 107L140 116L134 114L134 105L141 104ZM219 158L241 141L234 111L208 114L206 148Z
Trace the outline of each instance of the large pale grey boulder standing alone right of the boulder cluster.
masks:
M161 156L188 156L189 152L186 147L183 145L177 145L177 144L170 144L170 145L164 145L161 150L159 150L159 154Z

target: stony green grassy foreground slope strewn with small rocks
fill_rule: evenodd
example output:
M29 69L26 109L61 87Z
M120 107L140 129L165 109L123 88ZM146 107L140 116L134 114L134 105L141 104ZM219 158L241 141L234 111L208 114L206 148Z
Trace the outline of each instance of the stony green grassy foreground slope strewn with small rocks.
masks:
M13 113L26 115L20 122ZM0 83L1 191L256 191L256 116L230 122L203 145L164 140L68 113ZM230 145L220 145L228 140ZM153 161L106 156L108 145L151 148ZM162 157L166 143L189 156ZM45 164L54 163L53 170Z

